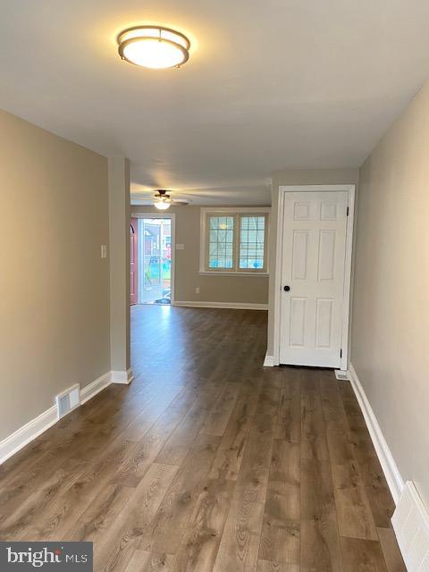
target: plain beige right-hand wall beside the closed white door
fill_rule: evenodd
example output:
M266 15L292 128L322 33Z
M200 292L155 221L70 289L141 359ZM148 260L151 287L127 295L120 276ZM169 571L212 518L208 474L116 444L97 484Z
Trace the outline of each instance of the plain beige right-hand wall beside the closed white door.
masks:
M351 361L429 504L429 84L360 175Z

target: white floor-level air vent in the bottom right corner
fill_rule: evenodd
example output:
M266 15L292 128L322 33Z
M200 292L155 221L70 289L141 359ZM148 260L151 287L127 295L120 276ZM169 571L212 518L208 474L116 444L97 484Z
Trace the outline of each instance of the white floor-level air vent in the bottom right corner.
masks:
M429 572L429 513L408 481L391 518L408 572Z

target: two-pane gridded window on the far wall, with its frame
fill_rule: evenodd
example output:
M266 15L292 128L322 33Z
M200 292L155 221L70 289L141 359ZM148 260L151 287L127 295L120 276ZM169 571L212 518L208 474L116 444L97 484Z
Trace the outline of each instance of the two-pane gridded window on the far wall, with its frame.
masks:
M267 273L267 208L203 208L201 226L200 272Z

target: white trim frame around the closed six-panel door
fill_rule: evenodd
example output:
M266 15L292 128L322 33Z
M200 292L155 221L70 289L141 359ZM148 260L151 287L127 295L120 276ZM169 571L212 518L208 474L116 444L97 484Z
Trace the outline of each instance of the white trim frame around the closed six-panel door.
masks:
M341 370L347 370L349 365L349 316L350 316L350 287L351 259L353 249L353 226L355 214L356 185L284 185L279 187L279 204L277 210L277 240L275 250L275 279L274 279L274 366L280 365L280 322L281 322L281 289L282 289L282 248L283 248L283 216L284 196L291 192L329 192L347 191L349 193L349 216L346 230L346 260L344 266L344 296L341 332Z

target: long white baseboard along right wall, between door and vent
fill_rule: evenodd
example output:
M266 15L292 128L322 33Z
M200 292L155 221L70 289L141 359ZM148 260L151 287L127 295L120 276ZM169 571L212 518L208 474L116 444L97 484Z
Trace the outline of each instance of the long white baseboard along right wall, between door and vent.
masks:
M355 391L357 401L364 414L366 426L368 427L369 434L374 443L374 448L383 468L384 476L386 477L387 484L391 491L391 496L395 504L398 504L400 495L404 488L404 480L400 475L400 471L395 463L395 459L391 454L391 450L384 439L382 429L378 425L373 408L366 397L366 392L359 382L355 368L350 364L349 366L349 379Z

